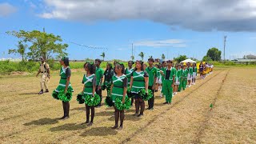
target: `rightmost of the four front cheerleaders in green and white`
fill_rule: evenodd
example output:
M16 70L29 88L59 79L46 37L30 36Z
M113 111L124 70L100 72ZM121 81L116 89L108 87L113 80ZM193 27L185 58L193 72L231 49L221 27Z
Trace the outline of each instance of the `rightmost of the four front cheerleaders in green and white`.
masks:
M137 61L133 74L130 78L130 90L134 94L136 112L134 115L140 117L145 110L145 102L138 94L140 90L145 89L148 94L149 75L143 69L143 62ZM139 107L141 107L140 114L138 114Z

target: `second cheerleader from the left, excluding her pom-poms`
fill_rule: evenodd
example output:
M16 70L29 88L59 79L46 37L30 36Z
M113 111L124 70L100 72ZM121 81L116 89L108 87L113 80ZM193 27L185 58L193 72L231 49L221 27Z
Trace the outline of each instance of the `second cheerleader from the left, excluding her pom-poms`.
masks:
M96 66L94 65L93 62L92 63L86 62L83 67L86 70L86 74L84 74L82 78L82 84L83 84L82 93L89 94L91 97L94 97L95 89L96 89L96 75L95 75ZM91 115L90 115L90 110L91 110ZM94 106L86 105L86 122L83 124L88 124L87 126L92 126L94 123L94 114L95 114ZM90 121L89 121L89 116L90 116Z

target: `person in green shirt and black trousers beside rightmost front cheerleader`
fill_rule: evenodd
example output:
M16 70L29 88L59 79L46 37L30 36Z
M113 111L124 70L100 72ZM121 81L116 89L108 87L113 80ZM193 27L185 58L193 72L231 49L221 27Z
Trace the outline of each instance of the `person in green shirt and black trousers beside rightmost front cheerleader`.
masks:
M157 73L158 69L153 66L154 63L154 58L149 58L148 59L149 66L146 67L146 72L149 74L149 90L152 90L153 97L148 100L148 109L147 110L154 110L154 88L155 88L155 83L157 81Z

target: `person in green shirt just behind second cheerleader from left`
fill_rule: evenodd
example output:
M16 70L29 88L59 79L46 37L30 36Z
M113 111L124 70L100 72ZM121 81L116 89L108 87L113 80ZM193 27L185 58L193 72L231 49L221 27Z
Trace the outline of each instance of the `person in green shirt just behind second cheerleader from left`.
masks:
M96 94L98 94L101 97L101 102L99 102L98 106L102 106L102 80L103 80L103 74L104 70L100 67L101 65L100 59L95 59L95 66L96 66Z

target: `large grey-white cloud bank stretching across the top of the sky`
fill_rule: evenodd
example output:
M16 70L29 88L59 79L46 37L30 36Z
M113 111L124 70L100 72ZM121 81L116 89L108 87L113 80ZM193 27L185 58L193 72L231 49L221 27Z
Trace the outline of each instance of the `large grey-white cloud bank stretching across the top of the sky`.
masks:
M254 0L45 0L42 18L146 19L190 30L256 31Z

